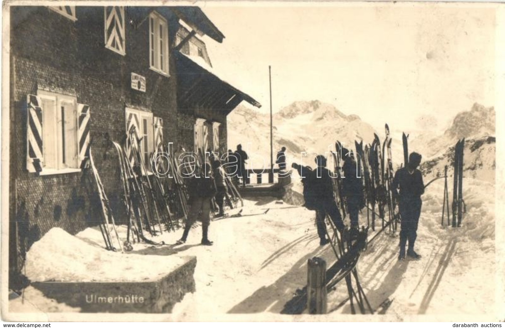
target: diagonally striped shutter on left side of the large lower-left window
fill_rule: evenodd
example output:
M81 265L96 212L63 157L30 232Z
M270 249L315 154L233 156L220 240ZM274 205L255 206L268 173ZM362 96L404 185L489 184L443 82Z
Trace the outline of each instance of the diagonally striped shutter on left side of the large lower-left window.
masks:
M28 172L42 171L44 156L42 152L42 102L40 97L29 94L27 104L27 153Z

